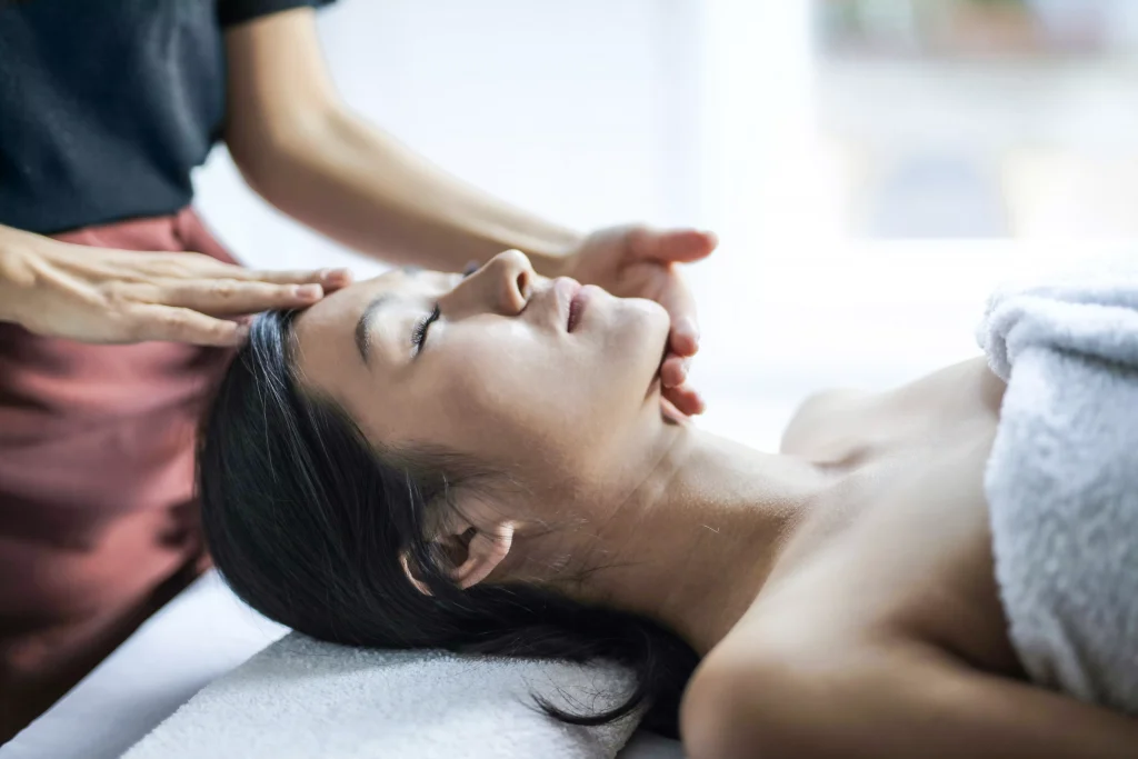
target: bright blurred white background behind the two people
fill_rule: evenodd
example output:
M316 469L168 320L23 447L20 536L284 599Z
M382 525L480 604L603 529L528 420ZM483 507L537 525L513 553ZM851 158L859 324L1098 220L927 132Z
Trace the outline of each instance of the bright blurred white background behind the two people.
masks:
M1138 237L1135 0L340 0L345 98L589 230L694 224L701 424L766 449L809 393L978 355L988 290ZM223 149L199 206L257 266L382 271ZM1130 248L1132 249L1132 248Z

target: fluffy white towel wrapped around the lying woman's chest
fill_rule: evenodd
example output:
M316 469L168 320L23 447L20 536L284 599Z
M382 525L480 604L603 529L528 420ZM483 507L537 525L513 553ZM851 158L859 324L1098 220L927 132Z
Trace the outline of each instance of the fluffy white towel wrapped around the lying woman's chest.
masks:
M979 340L1008 383L984 488L1012 642L1138 715L1138 256L1001 288Z

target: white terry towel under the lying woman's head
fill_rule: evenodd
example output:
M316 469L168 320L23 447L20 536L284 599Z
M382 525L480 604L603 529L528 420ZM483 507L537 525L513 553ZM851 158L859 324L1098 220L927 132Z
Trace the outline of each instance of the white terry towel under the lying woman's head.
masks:
M533 694L574 712L616 706L615 666L373 651L292 633L214 682L125 759L612 759L636 727L568 726Z

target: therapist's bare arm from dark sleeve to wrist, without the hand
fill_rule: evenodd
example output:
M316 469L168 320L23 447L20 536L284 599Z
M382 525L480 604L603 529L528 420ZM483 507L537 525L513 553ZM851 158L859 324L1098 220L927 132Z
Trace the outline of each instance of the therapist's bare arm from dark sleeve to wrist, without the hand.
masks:
M298 221L385 261L442 271L517 248L541 273L559 274L584 240L451 176L348 110L311 9L239 25L226 49L230 152L246 181Z

